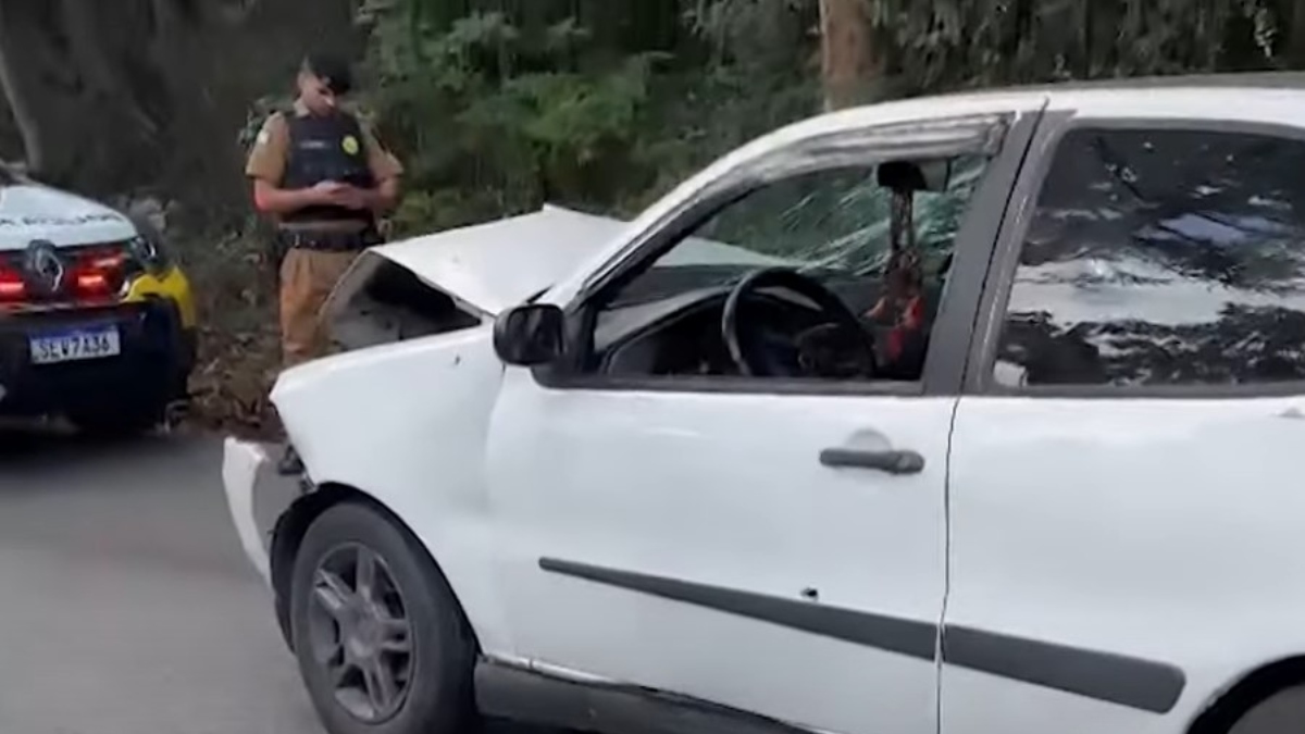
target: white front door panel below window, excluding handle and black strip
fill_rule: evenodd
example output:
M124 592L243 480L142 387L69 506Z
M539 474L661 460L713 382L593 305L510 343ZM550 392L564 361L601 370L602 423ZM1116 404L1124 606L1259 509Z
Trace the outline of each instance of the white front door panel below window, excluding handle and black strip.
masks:
M539 558L937 620L953 402L548 391L509 370L485 465L514 654L823 731L932 731L930 662L542 573ZM887 443L927 471L817 460Z

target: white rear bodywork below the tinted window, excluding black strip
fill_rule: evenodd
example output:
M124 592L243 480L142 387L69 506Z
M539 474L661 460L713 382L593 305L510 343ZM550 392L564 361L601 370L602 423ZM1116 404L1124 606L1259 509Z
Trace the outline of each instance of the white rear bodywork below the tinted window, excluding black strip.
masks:
M1214 692L1305 652L1302 410L962 398L949 620L1167 661L1188 686L1161 717L945 667L946 731L1034 731L1048 712L1073 734L1182 731Z

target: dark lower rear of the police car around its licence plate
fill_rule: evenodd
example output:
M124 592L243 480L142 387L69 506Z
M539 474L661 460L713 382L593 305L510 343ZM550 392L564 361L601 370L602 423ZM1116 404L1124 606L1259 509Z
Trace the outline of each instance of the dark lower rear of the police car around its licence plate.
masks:
M33 362L33 336L107 324L117 328L120 354L54 364ZM185 328L176 303L163 298L0 316L0 414L52 414L84 406L180 400L194 366L196 346L194 329Z

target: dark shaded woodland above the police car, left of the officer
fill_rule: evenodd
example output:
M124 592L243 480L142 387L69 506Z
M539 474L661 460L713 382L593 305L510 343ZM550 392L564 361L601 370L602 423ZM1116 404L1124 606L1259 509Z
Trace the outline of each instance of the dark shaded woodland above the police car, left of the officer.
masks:
M0 0L0 89L29 168L93 195L244 196L236 135L354 0ZM282 78L284 77L284 78Z

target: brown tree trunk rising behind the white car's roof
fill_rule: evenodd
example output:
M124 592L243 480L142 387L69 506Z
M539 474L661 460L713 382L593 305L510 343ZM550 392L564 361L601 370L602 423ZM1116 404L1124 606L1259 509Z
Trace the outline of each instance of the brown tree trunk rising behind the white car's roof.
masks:
M867 13L872 0L821 0L821 69L825 108L839 110L869 101L881 64Z

